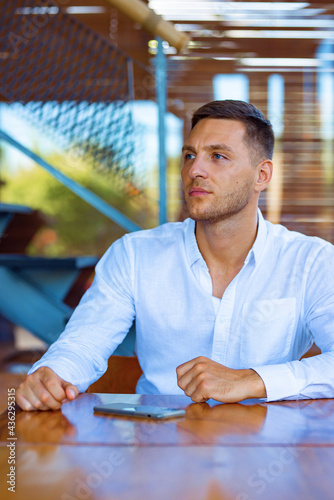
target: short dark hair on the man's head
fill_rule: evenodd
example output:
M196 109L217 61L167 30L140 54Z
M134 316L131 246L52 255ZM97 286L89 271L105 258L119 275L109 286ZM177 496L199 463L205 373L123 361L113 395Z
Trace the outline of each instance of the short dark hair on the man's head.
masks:
M269 120L253 104L244 101L212 101L195 111L191 128L204 118L237 120L246 128L246 141L254 148L254 157L261 160L272 159L274 152L274 132ZM253 154L252 154L253 157ZM255 158L254 158L255 159Z

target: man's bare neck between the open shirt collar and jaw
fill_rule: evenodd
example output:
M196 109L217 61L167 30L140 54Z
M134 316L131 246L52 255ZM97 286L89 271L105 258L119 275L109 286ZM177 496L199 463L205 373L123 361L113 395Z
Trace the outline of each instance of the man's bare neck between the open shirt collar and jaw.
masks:
M196 222L197 244L209 268L243 266L256 238L257 211L242 212L219 222Z

